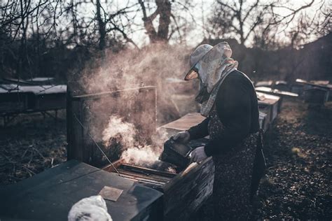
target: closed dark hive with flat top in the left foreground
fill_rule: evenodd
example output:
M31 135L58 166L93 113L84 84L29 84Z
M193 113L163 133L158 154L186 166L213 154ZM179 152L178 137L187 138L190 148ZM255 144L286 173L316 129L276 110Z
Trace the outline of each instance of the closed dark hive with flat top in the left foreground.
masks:
M0 187L0 219L67 220L71 206L104 186L123 190L117 201L106 200L114 221L162 220L161 192L76 160Z

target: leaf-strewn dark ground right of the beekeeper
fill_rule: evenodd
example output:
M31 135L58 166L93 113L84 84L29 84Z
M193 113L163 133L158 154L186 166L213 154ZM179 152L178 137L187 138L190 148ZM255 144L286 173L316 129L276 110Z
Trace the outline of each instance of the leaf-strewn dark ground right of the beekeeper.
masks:
M264 152L268 171L255 220L331 220L332 104L284 102Z

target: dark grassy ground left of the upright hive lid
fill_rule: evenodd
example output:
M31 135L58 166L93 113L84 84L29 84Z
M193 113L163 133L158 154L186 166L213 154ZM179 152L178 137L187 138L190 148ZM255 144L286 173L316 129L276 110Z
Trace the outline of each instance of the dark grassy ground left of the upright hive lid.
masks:
M57 121L39 113L20 115L0 126L0 185L16 183L65 162L66 115ZM2 119L1 119L2 120Z

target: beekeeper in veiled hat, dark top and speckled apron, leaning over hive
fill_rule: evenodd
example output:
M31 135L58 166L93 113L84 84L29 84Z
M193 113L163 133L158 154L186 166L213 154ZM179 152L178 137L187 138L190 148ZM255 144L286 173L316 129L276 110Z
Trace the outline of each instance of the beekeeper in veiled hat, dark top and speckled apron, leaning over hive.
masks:
M200 45L191 54L192 67L185 80L200 80L195 100L207 118L174 136L174 140L187 143L209 135L209 142L193 150L191 158L201 162L213 157L214 220L249 218L250 197L265 166L256 92L251 80L237 71L231 55L226 42L214 47Z

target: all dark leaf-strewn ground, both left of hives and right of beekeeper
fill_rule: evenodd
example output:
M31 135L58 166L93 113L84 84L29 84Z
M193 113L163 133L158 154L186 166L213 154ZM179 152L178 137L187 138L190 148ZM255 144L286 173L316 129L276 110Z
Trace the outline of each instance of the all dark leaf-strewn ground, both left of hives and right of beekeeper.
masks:
M0 185L64 162L65 128L64 112L57 122L38 114L22 115L1 127ZM331 220L331 143L331 103L308 108L301 101L284 102L265 137L268 171L258 192L254 220Z

